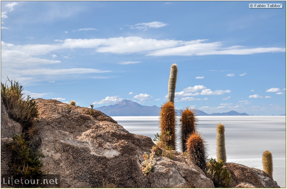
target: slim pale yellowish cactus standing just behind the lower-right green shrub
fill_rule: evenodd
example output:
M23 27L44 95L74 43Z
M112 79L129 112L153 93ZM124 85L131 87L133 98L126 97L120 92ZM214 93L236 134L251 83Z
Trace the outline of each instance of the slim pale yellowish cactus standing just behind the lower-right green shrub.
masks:
M217 161L221 159L223 163L226 163L226 151L225 151L225 137L224 137L224 125L218 124L216 126L217 136L216 136L216 156Z

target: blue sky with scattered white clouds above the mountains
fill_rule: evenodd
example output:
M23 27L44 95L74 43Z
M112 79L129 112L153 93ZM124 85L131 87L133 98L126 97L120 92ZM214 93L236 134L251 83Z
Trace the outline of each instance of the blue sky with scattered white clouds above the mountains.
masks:
M78 106L286 113L286 1L1 1L1 82ZM256 3L266 3L257 1Z

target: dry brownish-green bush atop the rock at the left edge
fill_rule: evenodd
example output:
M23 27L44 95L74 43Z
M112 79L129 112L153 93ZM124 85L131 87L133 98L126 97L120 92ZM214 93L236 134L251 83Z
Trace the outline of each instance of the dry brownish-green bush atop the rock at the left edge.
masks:
M23 97L24 89L18 82L14 80L13 83L9 78L7 81L11 84L10 86L1 82L3 104L7 108L9 117L20 123L23 131L26 132L34 125L34 118L38 118L36 102L29 95L26 98Z

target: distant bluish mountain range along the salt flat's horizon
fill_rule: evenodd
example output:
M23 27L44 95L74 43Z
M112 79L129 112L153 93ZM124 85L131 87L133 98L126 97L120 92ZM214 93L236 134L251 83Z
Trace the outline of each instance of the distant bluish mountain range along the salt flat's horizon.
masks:
M160 112L160 107L142 106L137 102L133 102L131 100L122 100L118 104L101 106L94 109L100 110L101 112L103 112L108 116L158 116ZM197 110L196 115L197 116L249 116L246 113L238 113L235 111L230 111L226 113L207 114L201 110Z

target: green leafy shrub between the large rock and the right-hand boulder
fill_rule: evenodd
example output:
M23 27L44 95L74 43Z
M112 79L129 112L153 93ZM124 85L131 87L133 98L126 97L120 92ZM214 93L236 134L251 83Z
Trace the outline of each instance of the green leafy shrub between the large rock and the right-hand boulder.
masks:
M222 159L216 161L211 158L207 162L205 175L213 181L215 188L228 188L232 181L228 170L222 168L223 165Z

